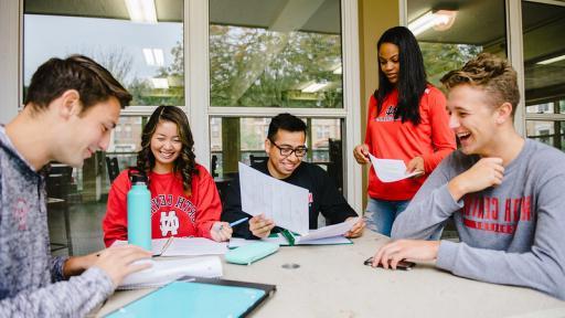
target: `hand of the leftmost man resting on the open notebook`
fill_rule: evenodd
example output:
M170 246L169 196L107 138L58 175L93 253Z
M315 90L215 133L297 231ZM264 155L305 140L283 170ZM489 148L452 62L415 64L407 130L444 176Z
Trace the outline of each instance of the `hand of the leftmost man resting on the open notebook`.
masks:
M90 255L86 257L90 257ZM136 261L151 257L151 252L135 245L111 246L100 251L98 255L92 266L106 272L114 283L114 287L117 287L127 275L151 267L150 263L132 264Z

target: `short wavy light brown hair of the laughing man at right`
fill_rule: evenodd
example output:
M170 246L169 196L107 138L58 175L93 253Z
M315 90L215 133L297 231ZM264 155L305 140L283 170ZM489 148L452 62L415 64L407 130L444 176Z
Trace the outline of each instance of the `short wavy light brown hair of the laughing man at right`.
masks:
M481 53L460 70L444 75L440 81L448 91L465 84L481 87L488 93L492 106L500 106L504 102L512 104L513 118L520 103L516 77L516 71L507 60L490 53Z

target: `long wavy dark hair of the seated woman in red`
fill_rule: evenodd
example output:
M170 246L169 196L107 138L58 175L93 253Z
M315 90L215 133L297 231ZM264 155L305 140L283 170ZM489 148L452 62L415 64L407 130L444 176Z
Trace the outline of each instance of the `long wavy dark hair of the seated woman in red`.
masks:
M149 172L154 167L154 156L151 151L151 137L157 129L157 125L162 121L170 121L177 125L179 137L182 142L181 153L174 160L173 172L180 172L182 176L182 186L184 191L191 192L192 176L198 174L196 155L192 151L194 139L190 130L189 118L182 109L175 106L159 106L154 109L149 121L143 127L141 134L141 150L137 155L137 169Z

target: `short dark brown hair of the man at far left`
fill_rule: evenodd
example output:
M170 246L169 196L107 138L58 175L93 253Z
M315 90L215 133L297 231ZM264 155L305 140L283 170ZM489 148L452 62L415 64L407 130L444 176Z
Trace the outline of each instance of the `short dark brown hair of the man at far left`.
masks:
M82 112L110 96L119 100L121 108L131 102L131 94L111 76L108 70L83 55L71 55L65 60L53 57L43 63L31 77L25 105L44 109L51 102L68 89L76 89L82 103Z

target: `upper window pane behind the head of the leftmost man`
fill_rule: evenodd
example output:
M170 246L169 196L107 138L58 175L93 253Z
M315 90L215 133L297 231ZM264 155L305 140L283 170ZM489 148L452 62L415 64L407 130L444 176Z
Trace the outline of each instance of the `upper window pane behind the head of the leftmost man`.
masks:
M184 105L182 0L167 1L156 23L132 22L125 1L55 2L24 1L24 93L40 64L78 53L108 68L131 105Z

